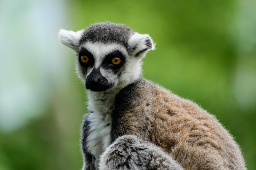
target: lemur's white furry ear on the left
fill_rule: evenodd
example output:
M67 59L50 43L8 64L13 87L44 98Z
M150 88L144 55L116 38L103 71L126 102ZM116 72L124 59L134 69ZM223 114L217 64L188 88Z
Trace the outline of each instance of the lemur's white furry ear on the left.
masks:
M74 31L67 31L65 29L61 29L58 32L58 38L61 44L70 47L74 51L77 50L79 46L79 41L83 35L83 30L74 32Z

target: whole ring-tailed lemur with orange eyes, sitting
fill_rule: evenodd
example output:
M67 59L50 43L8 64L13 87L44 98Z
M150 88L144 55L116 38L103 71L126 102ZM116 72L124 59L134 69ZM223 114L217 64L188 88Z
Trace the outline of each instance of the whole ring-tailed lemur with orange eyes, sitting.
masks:
M246 170L213 115L142 77L141 60L155 49L149 35L103 22L58 36L88 93L83 170Z

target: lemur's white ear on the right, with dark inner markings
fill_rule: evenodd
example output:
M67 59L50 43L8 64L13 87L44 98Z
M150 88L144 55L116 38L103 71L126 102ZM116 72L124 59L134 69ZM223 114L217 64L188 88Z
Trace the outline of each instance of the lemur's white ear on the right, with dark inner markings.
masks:
M135 57L142 58L149 50L155 49L155 44L148 34L135 33L128 40L129 52Z

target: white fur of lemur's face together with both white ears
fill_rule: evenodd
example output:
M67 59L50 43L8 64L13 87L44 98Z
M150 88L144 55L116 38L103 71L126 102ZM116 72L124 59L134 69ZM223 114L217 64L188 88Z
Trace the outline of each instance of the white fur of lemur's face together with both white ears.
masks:
M108 79L109 82L115 84L116 88L123 88L124 86L135 82L141 75L141 58L143 58L149 50L155 49L155 44L153 40L147 34L134 33L128 40L128 49L118 43L104 44L101 42L85 42L79 47L79 41L83 35L84 30L77 32L67 31L61 29L59 31L59 40L62 44L69 46L74 51L78 52L79 49L85 48L94 57L94 67L100 68L100 73ZM117 74L113 73L110 69L106 70L101 68L101 64L106 57L106 55L112 53L113 51L120 51L126 57L126 63L124 64L124 69L121 76L118 77ZM76 60L76 71L79 78L86 81L86 77L91 73L92 67L85 70Z

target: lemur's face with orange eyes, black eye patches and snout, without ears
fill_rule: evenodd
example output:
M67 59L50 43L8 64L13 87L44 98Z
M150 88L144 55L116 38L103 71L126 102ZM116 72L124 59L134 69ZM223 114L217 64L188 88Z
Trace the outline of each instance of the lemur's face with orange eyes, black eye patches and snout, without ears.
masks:
M106 91L123 83L129 58L126 48L120 44L85 42L78 51L76 70L87 89Z

